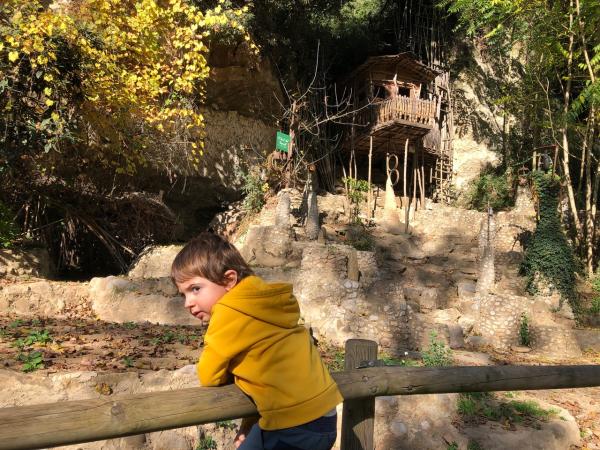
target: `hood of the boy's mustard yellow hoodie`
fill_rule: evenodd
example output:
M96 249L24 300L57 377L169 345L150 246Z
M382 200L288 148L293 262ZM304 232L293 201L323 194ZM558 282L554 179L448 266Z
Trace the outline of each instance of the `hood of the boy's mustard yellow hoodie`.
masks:
M254 275L236 284L217 305L281 328L294 328L300 320L300 308L291 284L271 284Z

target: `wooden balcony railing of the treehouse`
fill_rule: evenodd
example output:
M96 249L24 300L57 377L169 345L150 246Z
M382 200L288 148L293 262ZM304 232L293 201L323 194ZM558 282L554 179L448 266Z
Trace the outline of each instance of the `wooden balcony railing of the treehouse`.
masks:
M396 97L373 103L358 113L356 124L374 127L394 120L433 125L436 102L419 98Z

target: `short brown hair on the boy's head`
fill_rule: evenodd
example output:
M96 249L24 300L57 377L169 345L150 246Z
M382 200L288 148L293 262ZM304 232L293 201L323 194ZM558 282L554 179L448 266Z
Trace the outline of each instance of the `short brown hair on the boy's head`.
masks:
M238 282L254 274L233 244L221 236L204 232L177 254L171 265L171 278L175 283L183 283L199 276L222 285L228 270L237 272Z

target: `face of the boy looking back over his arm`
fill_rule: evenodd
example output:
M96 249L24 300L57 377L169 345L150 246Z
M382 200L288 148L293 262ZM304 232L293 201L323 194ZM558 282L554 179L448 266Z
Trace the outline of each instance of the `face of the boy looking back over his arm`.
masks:
M189 280L177 283L177 289L185 299L185 307L190 314L202 322L210 320L212 307L237 283L237 274L235 279L227 277L225 285L213 283L203 277L194 277Z

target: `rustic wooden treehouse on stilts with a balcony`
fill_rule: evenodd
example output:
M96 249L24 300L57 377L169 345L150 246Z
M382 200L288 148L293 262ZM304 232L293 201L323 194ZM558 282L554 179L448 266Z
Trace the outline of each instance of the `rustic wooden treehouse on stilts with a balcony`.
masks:
M373 182L385 183L386 155L394 154L401 165L397 179L405 186L404 197L417 189L421 198L430 196L449 179L452 114L447 72L406 52L368 58L343 84L352 92L355 109L343 145L351 174L367 178L352 166L364 171L368 155L369 179L373 167Z

